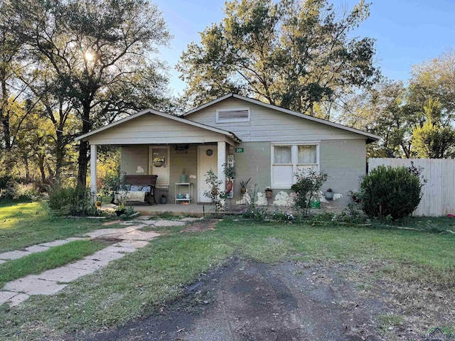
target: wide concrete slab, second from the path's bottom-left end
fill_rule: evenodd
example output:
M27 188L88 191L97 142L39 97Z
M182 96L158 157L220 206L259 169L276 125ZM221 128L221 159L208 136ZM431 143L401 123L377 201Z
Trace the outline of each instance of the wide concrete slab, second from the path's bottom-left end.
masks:
M26 293L27 295L53 295L65 288L67 284L57 284L55 281L45 281L36 278L36 275L29 275L24 278L16 279L5 284L4 290L16 291L16 293Z

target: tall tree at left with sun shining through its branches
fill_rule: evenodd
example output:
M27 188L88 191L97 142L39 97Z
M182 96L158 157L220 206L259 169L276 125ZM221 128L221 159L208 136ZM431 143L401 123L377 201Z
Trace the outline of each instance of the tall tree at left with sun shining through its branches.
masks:
M31 61L50 75L42 91L34 92L53 95L46 110L56 132L64 130L68 115L77 117L80 134L85 134L118 114L159 107L166 97L164 65L152 56L169 34L161 13L148 1L11 1L16 33L31 51ZM54 112L58 119L52 119ZM83 185L88 152L87 142L81 141L78 181Z

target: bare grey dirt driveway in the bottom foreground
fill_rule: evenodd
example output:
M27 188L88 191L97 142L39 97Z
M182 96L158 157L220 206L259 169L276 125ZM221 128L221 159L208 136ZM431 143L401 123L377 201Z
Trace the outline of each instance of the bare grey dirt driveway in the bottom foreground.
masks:
M83 340L385 340L382 300L360 297L345 271L232 259L159 314Z

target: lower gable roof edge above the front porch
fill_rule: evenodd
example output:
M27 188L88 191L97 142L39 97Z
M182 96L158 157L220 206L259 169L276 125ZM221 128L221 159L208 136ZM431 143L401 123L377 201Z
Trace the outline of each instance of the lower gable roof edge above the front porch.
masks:
M241 142L242 141L237 136L235 136L234 133L231 133L230 131L214 128L213 126L208 126L206 124L202 124L202 123L198 123L198 122L195 122L195 121L191 121L189 119L184 119L183 117L176 117L176 116L173 116L171 114L166 114L165 112L159 112L158 110L155 110L155 109L144 109L141 112L137 112L136 114L132 114L129 117L125 117L124 119L119 119L118 121L114 121L111 124L107 124L106 126L102 126L102 127L98 128L98 129L92 130L92 131L90 131L90 132L88 132L86 134L82 134L80 136L77 136L75 138L75 141L85 140L89 136L98 134L101 131L105 131L106 129L110 129L110 128L114 127L114 126L118 126L119 124L123 124L123 123L125 123L127 121L130 121L132 119L135 119L137 117L141 117L144 114L155 114L155 115L158 115L158 116L161 116L161 117L165 117L166 119L172 119L174 121L178 121L178 122L181 122L181 123L184 123L184 124L189 124L191 126L197 126L200 129L205 129L205 130L208 130L208 131L213 131L213 132L218 133L218 134L223 134L225 136L230 137L235 142Z

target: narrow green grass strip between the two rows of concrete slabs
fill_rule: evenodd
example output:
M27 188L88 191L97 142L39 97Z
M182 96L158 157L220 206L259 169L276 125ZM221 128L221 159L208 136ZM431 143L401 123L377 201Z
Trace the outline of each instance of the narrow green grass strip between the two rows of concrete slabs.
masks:
M40 274L49 269L55 269L72 261L93 254L106 247L105 243L93 240L77 240L46 251L36 252L13 261L0 264L0 288L5 283L14 281L31 274Z

